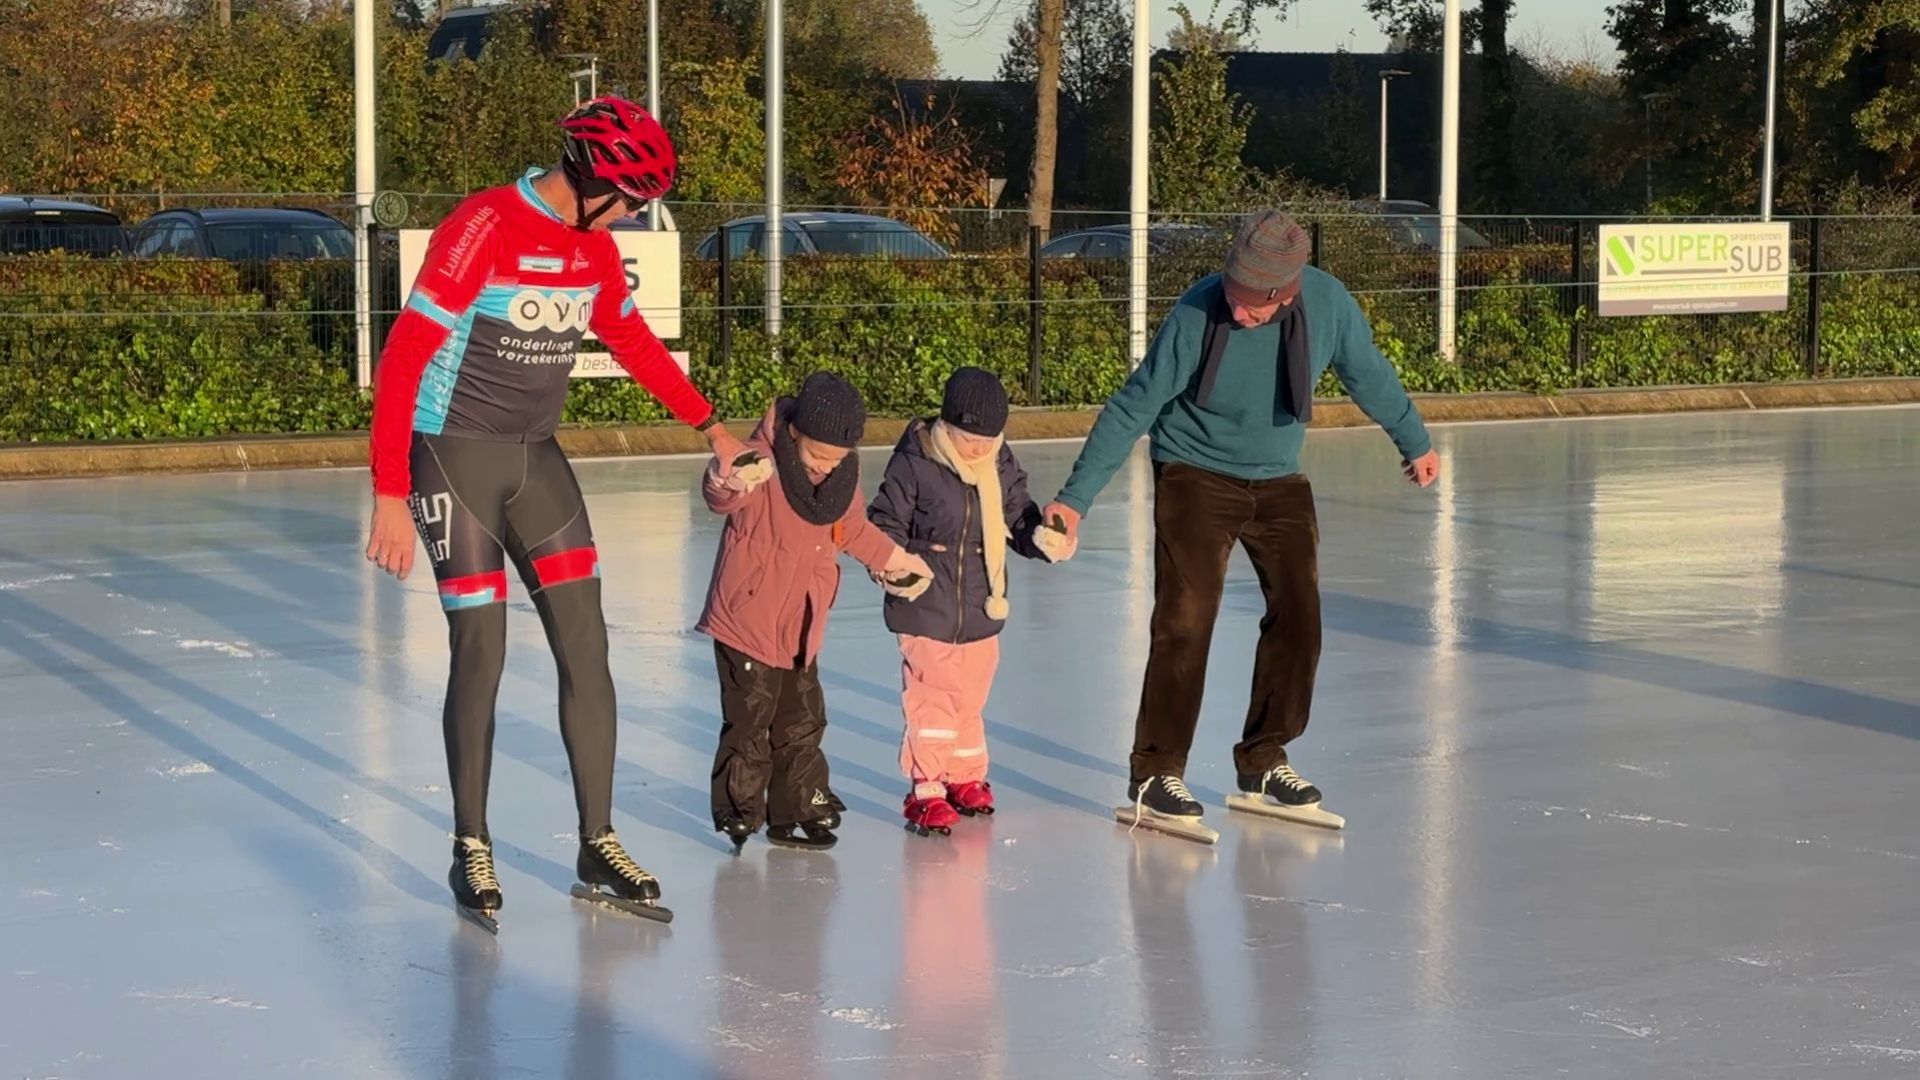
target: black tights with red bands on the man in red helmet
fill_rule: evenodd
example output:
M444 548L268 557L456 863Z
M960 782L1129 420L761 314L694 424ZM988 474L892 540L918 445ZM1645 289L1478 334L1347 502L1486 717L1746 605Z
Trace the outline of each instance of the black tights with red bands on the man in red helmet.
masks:
M507 559L532 594L561 676L561 740L580 832L611 824L614 700L599 557L580 482L555 440L413 436L413 521L447 611L453 832L486 832L493 700L507 663Z

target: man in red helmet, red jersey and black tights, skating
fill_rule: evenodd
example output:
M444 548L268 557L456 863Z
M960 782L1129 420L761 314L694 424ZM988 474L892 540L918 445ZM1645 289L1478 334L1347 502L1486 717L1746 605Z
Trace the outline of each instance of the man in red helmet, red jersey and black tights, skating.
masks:
M634 309L607 233L672 186L666 131L620 98L591 100L561 127L559 169L478 192L434 229L374 380L367 557L405 578L419 530L440 584L453 650L442 719L453 786L449 886L461 911L490 930L501 890L486 790L509 559L559 669L580 880L589 899L664 913L653 907L659 882L612 830L614 690L599 555L580 484L553 438L582 334L591 329L674 417L705 432L724 475L745 452ZM758 467L741 473L753 473L745 482L764 479Z

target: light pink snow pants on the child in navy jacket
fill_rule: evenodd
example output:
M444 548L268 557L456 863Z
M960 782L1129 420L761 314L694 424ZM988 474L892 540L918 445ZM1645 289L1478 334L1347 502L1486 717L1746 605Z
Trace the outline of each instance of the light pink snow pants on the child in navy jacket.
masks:
M900 634L900 705L906 713L900 773L916 784L985 780L985 709L993 673L1000 667L1000 638L948 646Z

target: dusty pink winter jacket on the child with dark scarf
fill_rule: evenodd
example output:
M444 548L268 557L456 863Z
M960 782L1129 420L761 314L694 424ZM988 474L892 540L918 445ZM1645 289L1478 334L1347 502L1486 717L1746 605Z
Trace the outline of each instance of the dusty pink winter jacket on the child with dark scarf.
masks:
M791 402L776 402L747 438L747 448L774 459L774 425L787 423ZM820 655L828 609L839 594L839 553L847 552L877 571L893 557L895 542L866 519L866 498L852 494L847 513L833 525L812 525L787 503L780 475L741 494L720 482L718 461L701 480L707 507L726 515L707 611L695 626L768 667L801 667ZM806 642L801 626L806 605L814 621Z

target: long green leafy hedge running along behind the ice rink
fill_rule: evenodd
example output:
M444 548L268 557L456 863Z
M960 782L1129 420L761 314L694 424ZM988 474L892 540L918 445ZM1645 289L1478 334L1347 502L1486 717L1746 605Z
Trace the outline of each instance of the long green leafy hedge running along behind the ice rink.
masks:
M1336 267L1338 269L1338 267ZM349 273L349 271L348 271ZM1041 392L1027 392L1023 259L795 261L776 354L753 306L760 267L735 267L733 359L716 356L712 265L689 263L674 342L728 415L758 415L804 373L845 373L876 413L922 413L962 363L996 371L1021 405L1091 405L1127 377L1125 282L1048 263ZM1805 375L1805 281L1789 311L1596 319L1572 294L1507 263L1463 292L1461 363L1432 356L1430 294L1361 292L1375 338L1411 390L1559 390ZM0 259L0 440L179 438L367 425L338 263L236 267L177 259ZM349 279L348 279L349 281ZM1822 375L1920 375L1920 307L1905 275L1826 279ZM1156 275L1156 309L1181 281ZM1578 327L1586 363L1574 371ZM1323 394L1338 394L1331 377ZM574 386L570 423L664 419L626 380Z

